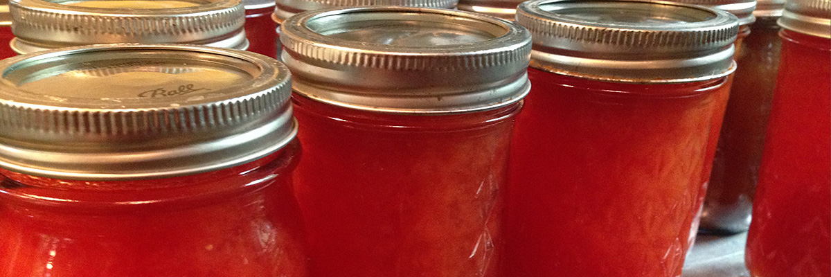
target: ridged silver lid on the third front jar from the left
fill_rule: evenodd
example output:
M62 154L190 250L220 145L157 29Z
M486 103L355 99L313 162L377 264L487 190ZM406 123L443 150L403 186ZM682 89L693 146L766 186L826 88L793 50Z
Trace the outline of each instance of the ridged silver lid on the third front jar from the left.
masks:
M531 67L607 82L696 82L735 70L729 12L674 2L535 0L517 8Z

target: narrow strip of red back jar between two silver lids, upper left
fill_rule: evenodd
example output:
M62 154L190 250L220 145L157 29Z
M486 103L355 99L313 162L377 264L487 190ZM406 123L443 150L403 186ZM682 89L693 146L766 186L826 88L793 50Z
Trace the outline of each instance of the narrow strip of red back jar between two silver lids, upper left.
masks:
M248 37L248 51L268 57L277 57L278 37L274 32L277 24L271 19L274 0L243 0L245 7L245 33Z

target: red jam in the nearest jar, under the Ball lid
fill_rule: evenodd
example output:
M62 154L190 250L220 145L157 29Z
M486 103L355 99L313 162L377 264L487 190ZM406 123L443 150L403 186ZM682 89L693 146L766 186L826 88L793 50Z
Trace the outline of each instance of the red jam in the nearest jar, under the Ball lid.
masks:
M221 171L72 181L0 169L0 273L304 276L299 144Z

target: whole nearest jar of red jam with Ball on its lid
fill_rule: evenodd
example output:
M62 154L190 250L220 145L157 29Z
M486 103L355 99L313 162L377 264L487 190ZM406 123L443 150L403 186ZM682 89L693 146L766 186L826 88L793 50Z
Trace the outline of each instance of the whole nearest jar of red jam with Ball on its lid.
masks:
M172 45L0 68L0 275L306 276L288 68Z

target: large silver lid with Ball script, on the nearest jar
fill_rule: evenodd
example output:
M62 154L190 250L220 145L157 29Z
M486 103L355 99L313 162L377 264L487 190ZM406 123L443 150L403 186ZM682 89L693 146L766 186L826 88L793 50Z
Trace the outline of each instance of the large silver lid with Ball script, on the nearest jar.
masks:
M297 132L288 68L252 52L98 45L0 70L0 166L32 176L186 176L268 156Z

